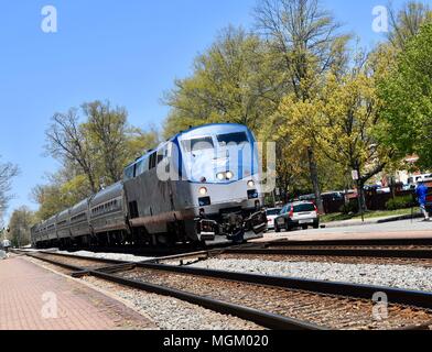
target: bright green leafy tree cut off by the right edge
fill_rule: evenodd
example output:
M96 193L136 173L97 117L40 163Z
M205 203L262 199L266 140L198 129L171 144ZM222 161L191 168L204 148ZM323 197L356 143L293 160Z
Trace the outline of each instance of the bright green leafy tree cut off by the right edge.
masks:
M432 167L432 23L424 24L379 84L387 121L382 135L403 157L418 154L418 165Z

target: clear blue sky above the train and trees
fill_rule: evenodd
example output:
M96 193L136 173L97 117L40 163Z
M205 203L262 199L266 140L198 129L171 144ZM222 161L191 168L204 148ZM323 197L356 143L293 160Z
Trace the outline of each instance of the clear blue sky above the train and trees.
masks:
M1 0L0 154L21 168L11 210L28 205L31 189L57 163L44 155L44 131L56 111L109 99L125 106L132 124L160 125L160 102L175 78L228 24L252 25L256 0ZM381 40L371 30L372 8L386 1L324 0L364 45ZM395 0L399 6L402 0ZM41 30L41 9L56 7L58 32Z

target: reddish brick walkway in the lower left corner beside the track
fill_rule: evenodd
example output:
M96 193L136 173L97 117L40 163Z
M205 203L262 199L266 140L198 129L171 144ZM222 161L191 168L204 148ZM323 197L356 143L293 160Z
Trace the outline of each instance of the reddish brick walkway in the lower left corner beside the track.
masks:
M46 318L55 300L57 317ZM154 326L121 302L22 257L0 261L0 330L118 329Z

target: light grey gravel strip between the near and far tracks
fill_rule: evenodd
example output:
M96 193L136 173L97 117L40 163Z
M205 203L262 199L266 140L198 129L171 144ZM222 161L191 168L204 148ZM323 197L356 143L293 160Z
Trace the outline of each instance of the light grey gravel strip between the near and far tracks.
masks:
M432 292L432 268L410 265L218 260L192 267Z

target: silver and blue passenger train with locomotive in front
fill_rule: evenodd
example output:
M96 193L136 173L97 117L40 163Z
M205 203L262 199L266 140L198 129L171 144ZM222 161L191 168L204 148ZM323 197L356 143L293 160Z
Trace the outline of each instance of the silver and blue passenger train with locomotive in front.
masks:
M182 132L126 167L123 179L32 229L37 248L173 245L262 237L259 156L244 125Z

